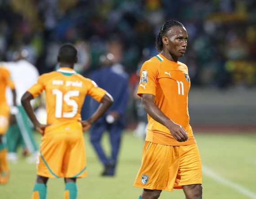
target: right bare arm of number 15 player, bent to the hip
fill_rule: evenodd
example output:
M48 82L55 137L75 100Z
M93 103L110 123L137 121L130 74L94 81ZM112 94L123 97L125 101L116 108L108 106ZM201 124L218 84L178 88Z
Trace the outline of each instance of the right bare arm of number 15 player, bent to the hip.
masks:
M102 97L100 106L93 113L93 115L85 121L80 121L83 125L83 131L84 132L87 131L91 127L91 125L95 123L97 119L99 119L106 112L106 110L109 109L109 107L113 104L113 102L114 102L113 97L109 93L106 93Z

